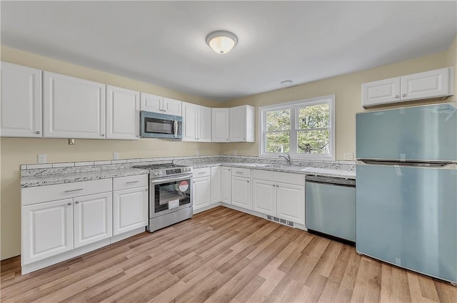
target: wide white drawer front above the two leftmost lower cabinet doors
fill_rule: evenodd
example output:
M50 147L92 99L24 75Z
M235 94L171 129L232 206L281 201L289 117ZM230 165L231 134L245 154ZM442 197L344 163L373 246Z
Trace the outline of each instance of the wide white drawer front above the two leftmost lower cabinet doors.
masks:
M35 188L21 189L22 205L31 205L41 202L81 197L100 192L111 192L112 181L109 179L91 180L56 185L36 186Z

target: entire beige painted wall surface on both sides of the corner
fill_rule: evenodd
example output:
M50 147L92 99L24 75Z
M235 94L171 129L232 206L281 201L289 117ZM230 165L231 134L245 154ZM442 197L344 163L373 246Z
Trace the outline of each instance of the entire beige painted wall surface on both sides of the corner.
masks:
M383 78L402 76L408 73L428 71L435 68L457 65L457 46L452 46L444 53L416 58L410 61L372 68L367 71L329 78L300 86L283 88L278 91L261 93L255 96L240 98L226 103L216 103L196 96L190 96L177 91L154 86L149 83L134 81L129 78L110 73L95 71L91 68L76 66L71 63L37 56L32 53L1 47L1 60L24 66L54 71L69 76L86 78L114 86L154 93L160 96L176 98L204 106L229 107L242 104L265 106L273 103L295 101L316 96L336 95L336 159L342 160L343 153L355 152L355 113L363 111L361 107L361 83L376 81ZM456 77L457 78L457 77ZM457 82L456 82L457 88ZM456 97L448 100L456 100ZM432 102L432 101L431 101ZM258 118L256 117L256 121ZM258 136L256 123L256 137ZM113 152L119 152L120 158L148 158L174 155L233 154L258 155L258 140L256 143L181 143L156 139L139 141L122 140L76 140L76 145L68 145L66 139L0 139L0 180L1 180L1 250L0 257L4 260L20 253L20 188L19 165L36 163L36 155L46 153L49 163L109 160Z

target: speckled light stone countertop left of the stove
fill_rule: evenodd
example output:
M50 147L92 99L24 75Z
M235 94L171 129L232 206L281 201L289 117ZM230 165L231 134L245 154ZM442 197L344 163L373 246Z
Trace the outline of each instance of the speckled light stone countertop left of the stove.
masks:
M34 186L54 185L89 180L99 180L129 175L145 175L149 170L140 168L124 168L115 170L96 170L84 173L59 173L56 175L29 176L21 178L21 188L32 188Z

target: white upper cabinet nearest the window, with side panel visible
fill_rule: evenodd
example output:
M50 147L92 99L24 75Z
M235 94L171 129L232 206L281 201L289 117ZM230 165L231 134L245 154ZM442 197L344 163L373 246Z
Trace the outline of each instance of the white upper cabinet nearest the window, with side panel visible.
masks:
M231 142L254 142L254 128L253 106L236 106L230 108Z

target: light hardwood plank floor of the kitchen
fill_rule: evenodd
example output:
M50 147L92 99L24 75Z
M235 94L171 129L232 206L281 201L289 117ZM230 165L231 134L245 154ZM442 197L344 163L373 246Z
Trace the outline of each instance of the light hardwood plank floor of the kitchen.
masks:
M457 287L226 207L20 274L1 302L457 302Z

